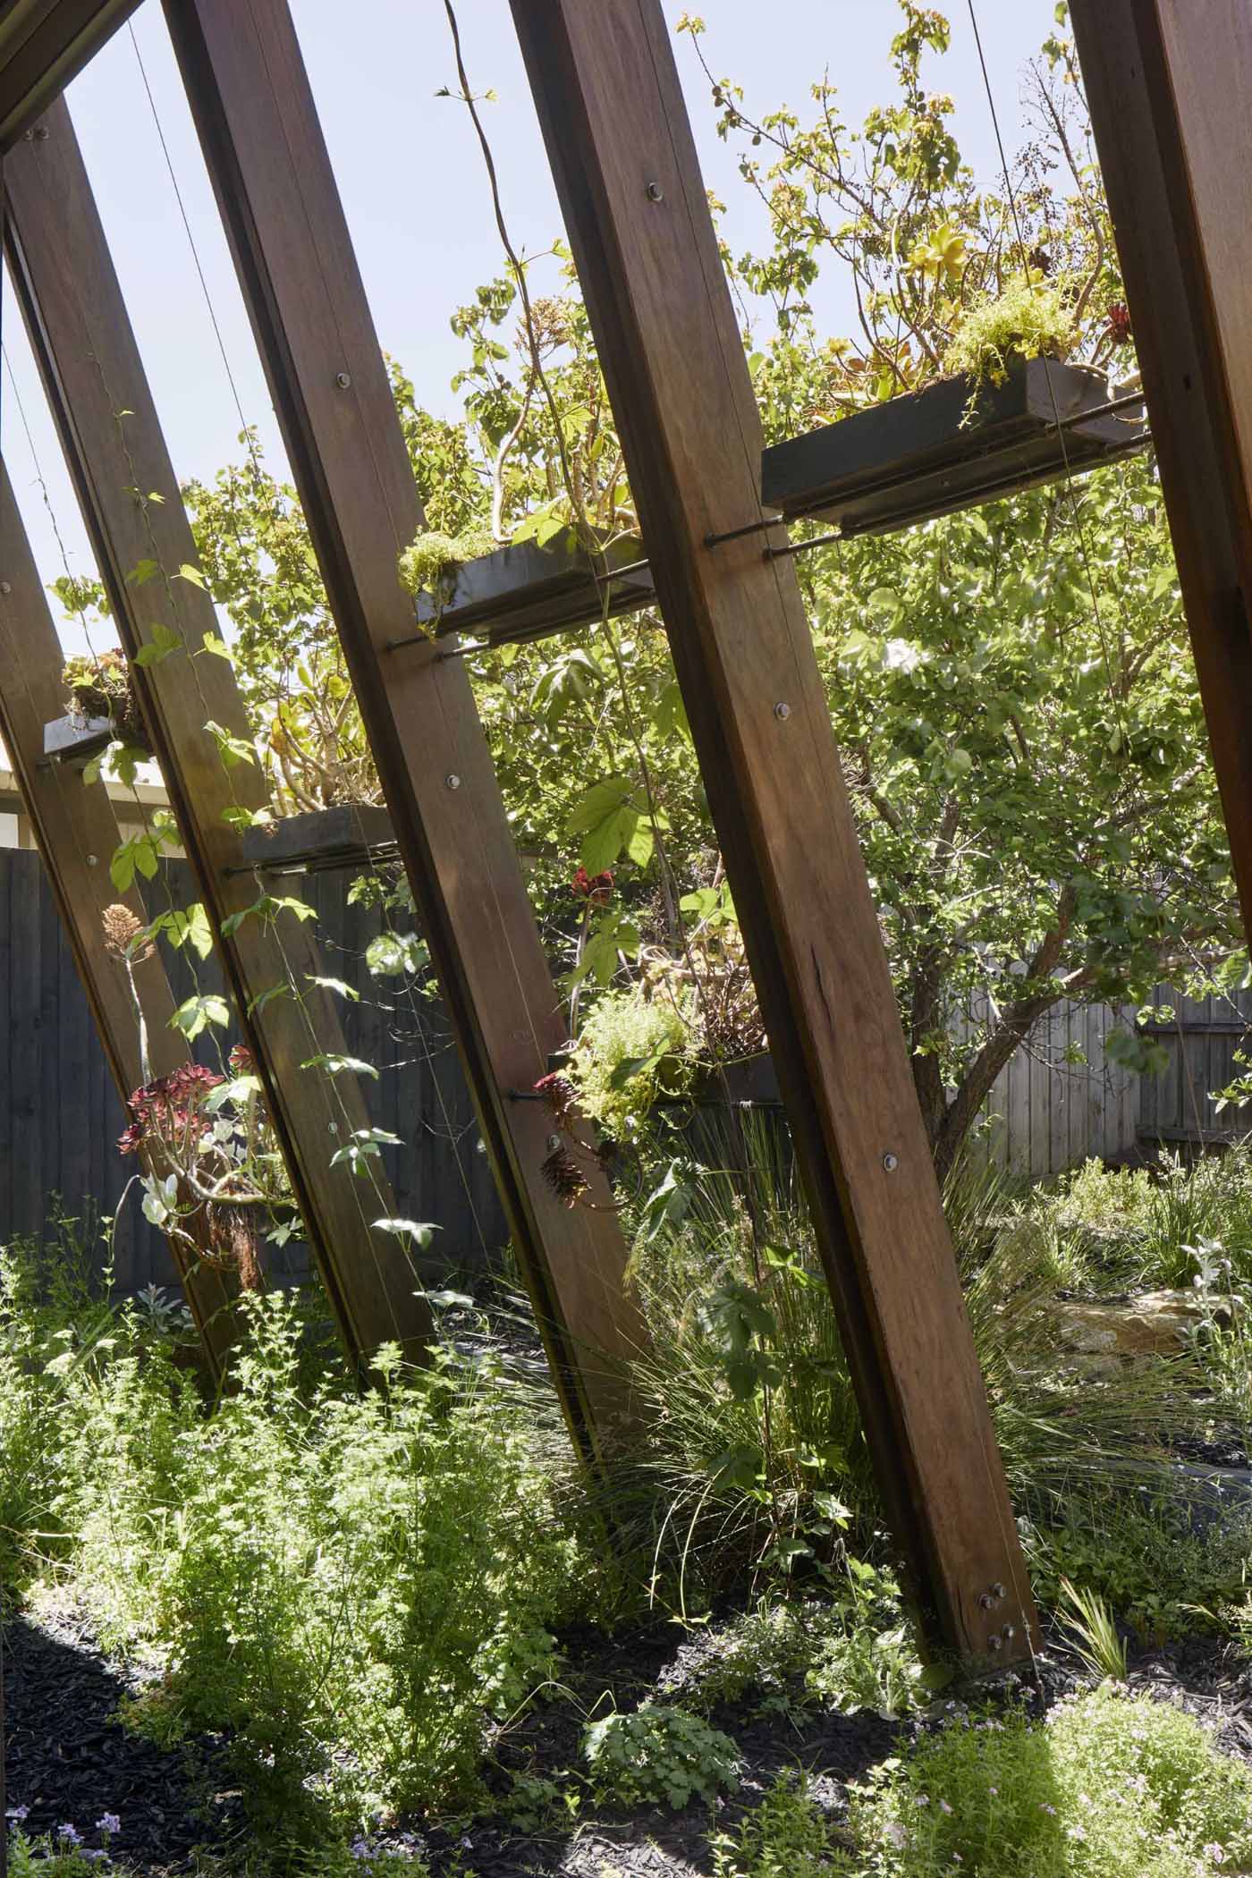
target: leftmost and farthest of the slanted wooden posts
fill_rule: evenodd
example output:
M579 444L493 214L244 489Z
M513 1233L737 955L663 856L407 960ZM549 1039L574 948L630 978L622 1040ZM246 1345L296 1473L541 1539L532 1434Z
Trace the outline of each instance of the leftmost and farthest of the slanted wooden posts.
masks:
M56 770L43 759L43 725L64 710L62 667L64 654L39 569L8 468L0 464L0 736L53 883L99 1042L126 1104L131 1089L145 1080L139 1024L124 969L105 947L101 916L105 907L118 903L143 926L148 924L148 915L137 890L118 894L109 879L118 824L105 785L84 783L81 776ZM133 977L148 1031L152 1074L167 1076L188 1063L191 1054L169 1022L175 1001L160 956L135 965ZM235 1333L235 1290L225 1273L188 1260L175 1239L169 1249L216 1377Z

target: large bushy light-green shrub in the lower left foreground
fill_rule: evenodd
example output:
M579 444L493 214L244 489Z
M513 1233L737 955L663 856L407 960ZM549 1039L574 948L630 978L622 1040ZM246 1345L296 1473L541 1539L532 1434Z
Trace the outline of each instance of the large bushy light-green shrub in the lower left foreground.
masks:
M466 1795L490 1716L552 1679L552 1626L586 1609L524 1403L492 1358L447 1348L424 1371L379 1352L366 1393L302 1390L297 1301L246 1309L212 1412L133 1311L19 1367L41 1393L0 1410L0 1439L43 1442L34 1531L62 1534L105 1641L163 1660L131 1726L229 1732L257 1820ZM34 1348L39 1322L9 1328Z

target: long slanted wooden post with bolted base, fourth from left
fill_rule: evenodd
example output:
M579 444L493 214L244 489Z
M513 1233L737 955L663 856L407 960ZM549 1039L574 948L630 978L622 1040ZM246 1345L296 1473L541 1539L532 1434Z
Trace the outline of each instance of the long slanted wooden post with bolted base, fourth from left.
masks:
M512 0L878 1487L933 1630L1021 1656L1031 1589L657 0ZM993 1591L993 1587L1000 1587Z

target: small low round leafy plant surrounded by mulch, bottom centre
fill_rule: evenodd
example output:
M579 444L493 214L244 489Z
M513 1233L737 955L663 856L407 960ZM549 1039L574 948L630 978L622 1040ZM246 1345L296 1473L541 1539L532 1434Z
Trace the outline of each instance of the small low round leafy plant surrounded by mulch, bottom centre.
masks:
M730 1735L683 1709L606 1715L584 1735L584 1756L601 1799L616 1807L685 1807L738 1786L740 1750Z

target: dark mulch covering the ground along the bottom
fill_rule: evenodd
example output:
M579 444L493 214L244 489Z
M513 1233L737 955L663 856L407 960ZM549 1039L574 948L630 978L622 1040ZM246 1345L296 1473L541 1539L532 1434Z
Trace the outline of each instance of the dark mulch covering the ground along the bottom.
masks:
M847 1784L863 1778L918 1726L869 1711L762 1711L753 1698L725 1703L710 1720L738 1743L743 1782L713 1814L696 1803L681 1812L578 1816L559 1829L518 1831L503 1818L512 1773L561 1780L565 1771L576 1771L584 1715L597 1703L599 1713L608 1703L634 1707L657 1690L681 1701L693 1653L674 1624L616 1638L586 1630L561 1645L561 1685L569 1694L537 1703L497 1737L486 1810L452 1827L402 1822L407 1831L381 1835L374 1844L419 1852L432 1878L704 1878L711 1870L711 1835L756 1805L777 1773L807 1767L815 1797L837 1820ZM1062 1649L1049 1645L1040 1681L1036 1700L1046 1707L1081 1686L1083 1677ZM163 1750L118 1726L118 1703L135 1686L135 1673L98 1649L81 1615L13 1619L6 1639L8 1805L30 1809L26 1831L54 1831L68 1822L88 1844L99 1842L94 1822L115 1812L122 1820L113 1844L118 1861L139 1878L167 1878L186 1870L195 1846L240 1842L244 1820L221 1773L221 1741ZM1228 1752L1252 1762L1252 1671L1237 1666L1220 1639L1190 1638L1137 1653L1132 1686L1184 1705L1216 1728ZM1000 1688L991 1700L1015 1694ZM933 1720L920 1726L937 1726L944 1707L937 1703Z

